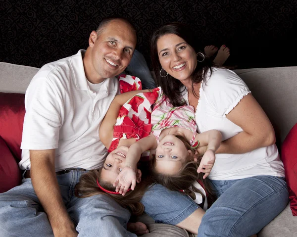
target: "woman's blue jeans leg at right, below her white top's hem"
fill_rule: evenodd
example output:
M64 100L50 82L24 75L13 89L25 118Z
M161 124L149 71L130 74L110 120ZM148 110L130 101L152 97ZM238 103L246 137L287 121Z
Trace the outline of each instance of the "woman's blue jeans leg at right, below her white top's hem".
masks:
M206 211L198 237L249 237L273 220L289 201L284 178L254 176L211 181L219 198Z

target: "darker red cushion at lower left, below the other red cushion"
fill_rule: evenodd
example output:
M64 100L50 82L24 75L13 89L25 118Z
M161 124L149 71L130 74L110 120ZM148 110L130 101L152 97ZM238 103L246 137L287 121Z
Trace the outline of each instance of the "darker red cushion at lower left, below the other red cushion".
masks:
M20 184L21 170L1 138L0 154L0 192L5 192Z

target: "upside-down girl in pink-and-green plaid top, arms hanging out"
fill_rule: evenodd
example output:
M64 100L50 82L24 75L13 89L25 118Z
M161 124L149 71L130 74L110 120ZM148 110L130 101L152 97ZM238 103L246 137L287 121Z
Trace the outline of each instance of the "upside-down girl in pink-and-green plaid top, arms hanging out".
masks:
M116 191L123 195L131 184L132 187L135 184L136 173L133 167L138 163L144 151L156 149L155 158L152 161L153 172L161 175L157 182L170 189L170 185L166 185L166 182L164 183L162 180L167 180L168 177L180 179L183 173L188 172L189 164L197 164L199 154L196 148L198 145L207 145L207 151L195 170L198 173L205 173L201 177L202 180L205 179L214 164L215 151L221 143L219 131L210 130L201 134L196 132L193 106L173 107L160 88L155 90L158 91L158 98L151 113L151 134L130 146L126 155L125 167L114 182ZM176 187L172 189L176 190Z

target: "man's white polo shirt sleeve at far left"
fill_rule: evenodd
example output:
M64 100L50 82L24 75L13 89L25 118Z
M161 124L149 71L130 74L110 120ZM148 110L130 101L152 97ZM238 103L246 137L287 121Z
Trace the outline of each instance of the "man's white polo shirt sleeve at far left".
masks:
M25 95L22 149L58 147L61 126L59 96L46 77L34 77Z

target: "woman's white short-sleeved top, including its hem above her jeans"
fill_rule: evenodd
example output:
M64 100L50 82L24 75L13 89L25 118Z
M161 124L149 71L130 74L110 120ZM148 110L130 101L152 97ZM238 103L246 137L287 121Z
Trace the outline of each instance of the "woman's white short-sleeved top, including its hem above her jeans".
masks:
M201 84L195 113L198 133L211 129L222 133L222 141L243 130L228 120L228 114L238 102L250 93L245 82L233 71L213 68L206 85ZM185 90L184 98L188 102ZM244 154L216 154L209 178L212 180L243 179L257 175L285 177L284 165L275 144Z

